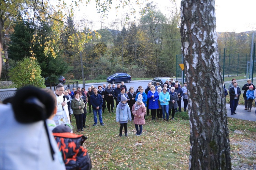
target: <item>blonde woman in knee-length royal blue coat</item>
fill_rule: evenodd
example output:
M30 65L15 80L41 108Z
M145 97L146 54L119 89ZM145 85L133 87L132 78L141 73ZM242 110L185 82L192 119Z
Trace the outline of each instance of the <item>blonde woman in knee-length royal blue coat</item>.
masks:
M147 93L148 108L151 110L152 120L156 120L156 109L158 109L158 93L155 86L150 87L150 91Z

